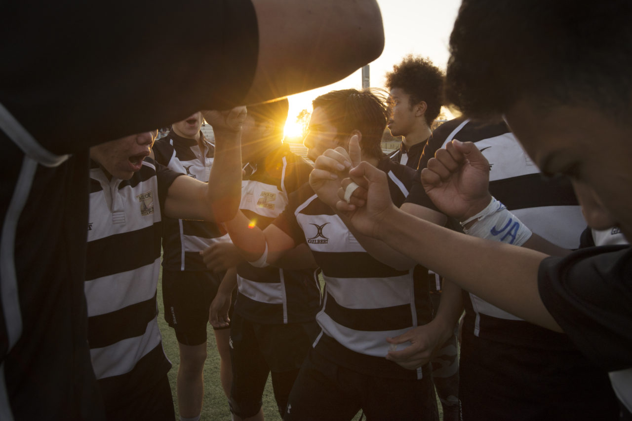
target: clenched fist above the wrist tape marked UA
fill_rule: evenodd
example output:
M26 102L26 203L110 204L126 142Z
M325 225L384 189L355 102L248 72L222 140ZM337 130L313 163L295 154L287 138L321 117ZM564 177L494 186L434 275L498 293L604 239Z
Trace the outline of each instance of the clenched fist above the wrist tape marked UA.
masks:
M489 205L489 162L476 145L453 140L422 170L422 185L439 210L459 221Z

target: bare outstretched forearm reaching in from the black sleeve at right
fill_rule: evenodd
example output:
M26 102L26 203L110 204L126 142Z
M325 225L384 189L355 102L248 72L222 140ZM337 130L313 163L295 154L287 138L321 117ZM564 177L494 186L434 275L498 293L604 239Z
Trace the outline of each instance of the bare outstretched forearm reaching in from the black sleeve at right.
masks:
M394 207L376 229L386 244L459 287L527 321L559 331L538 294L538 266L545 254L469 237ZM460 262L455 264L455 259Z

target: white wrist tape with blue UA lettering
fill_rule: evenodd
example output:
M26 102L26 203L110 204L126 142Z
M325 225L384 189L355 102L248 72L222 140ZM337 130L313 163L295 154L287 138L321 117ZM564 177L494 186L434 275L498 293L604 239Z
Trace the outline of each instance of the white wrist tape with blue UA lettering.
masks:
M474 225L463 228L465 234L473 237L522 246L532 235L531 230L495 198L477 215L461 222L461 226L473 220L477 220Z

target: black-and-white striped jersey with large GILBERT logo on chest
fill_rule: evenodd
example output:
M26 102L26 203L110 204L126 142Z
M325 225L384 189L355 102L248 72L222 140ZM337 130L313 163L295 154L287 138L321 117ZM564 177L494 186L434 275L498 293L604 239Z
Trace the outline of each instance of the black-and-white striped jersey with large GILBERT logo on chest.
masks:
M384 157L396 206L408 195L415 172ZM290 197L274 224L296 244L307 242L325 280L324 304L316 319L322 333L315 350L337 364L370 376L420 379L423 370L406 370L386 360L389 343L430 321L427 283L413 280L413 269L396 270L377 261L353 237L343 221L309 185Z

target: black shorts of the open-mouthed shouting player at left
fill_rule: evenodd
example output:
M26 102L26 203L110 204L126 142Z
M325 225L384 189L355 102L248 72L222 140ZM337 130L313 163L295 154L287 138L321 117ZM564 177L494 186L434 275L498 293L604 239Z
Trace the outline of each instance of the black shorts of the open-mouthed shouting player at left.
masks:
M167 374L153 388L126 405L114 409L106 408L106 418L108 421L173 421L176 419Z

